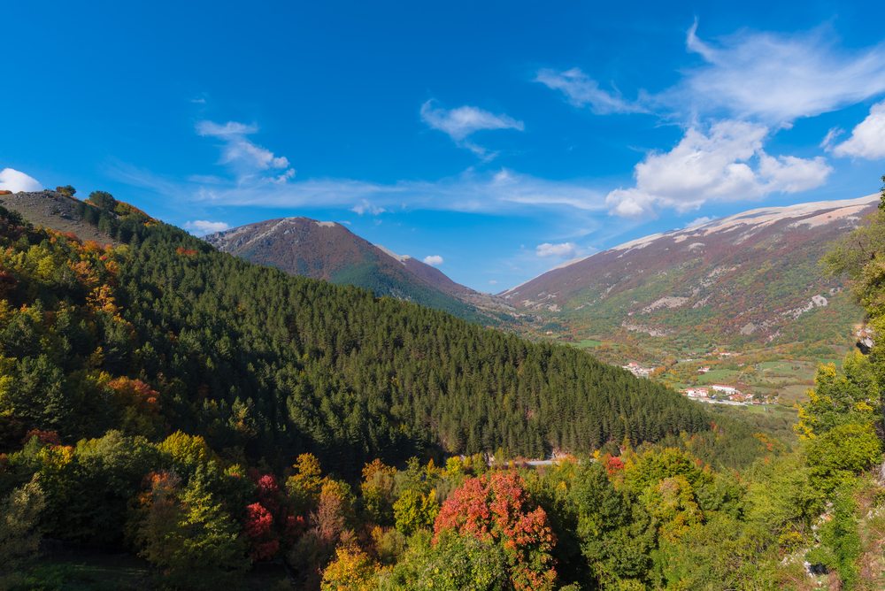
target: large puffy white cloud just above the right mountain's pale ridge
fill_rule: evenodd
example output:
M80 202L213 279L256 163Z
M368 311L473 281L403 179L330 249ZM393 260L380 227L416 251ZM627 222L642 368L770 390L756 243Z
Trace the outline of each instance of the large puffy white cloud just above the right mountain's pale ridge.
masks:
M822 157L771 157L763 150L767 127L724 120L704 133L691 127L673 150L650 152L635 166L635 187L606 196L612 213L654 215L656 207L696 209L710 201L758 199L819 187L832 169Z

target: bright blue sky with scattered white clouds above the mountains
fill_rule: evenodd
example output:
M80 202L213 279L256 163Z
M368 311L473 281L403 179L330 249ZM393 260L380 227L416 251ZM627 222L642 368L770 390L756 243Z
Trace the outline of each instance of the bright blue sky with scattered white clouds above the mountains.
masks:
M0 6L0 188L347 223L483 291L885 173L885 4Z

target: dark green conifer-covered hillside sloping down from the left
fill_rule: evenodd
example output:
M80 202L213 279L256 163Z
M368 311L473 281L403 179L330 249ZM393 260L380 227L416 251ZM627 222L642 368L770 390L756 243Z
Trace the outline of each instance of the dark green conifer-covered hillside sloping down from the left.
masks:
M579 350L251 265L107 194L80 207L119 246L0 218L4 449L33 429L181 429L228 457L311 450L346 470L709 428L680 395Z

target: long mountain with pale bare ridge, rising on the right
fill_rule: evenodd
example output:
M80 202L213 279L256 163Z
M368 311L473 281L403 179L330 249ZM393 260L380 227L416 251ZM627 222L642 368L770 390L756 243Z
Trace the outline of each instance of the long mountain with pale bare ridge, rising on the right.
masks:
M843 343L863 315L819 261L878 201L866 196L744 211L621 244L500 295L542 313L562 333L638 340L647 350L683 357Z

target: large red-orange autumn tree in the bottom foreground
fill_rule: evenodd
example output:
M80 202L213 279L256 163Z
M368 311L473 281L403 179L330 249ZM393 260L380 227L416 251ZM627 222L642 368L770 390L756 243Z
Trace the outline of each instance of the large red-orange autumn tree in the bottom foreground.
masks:
M434 531L493 540L504 548L517 590L552 589L556 543L547 513L532 502L517 472L492 472L466 480L443 503Z

